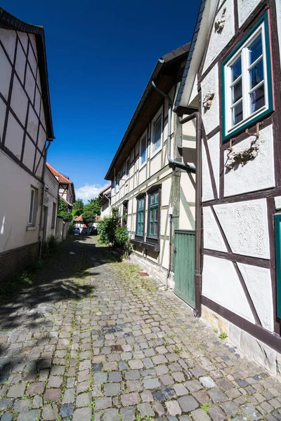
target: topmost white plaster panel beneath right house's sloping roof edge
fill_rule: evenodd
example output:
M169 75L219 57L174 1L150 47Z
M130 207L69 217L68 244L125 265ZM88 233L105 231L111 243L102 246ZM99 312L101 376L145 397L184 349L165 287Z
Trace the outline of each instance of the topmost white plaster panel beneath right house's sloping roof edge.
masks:
M248 0L247 0L248 1ZM247 3L247 1L244 3ZM230 39L235 34L234 29L234 11L233 11L233 0L226 0L226 3L216 15L216 18L221 18L223 9L226 7L225 25L221 32L215 32L214 26L211 28L211 38L209 40L208 53L204 62L203 72L208 69L211 63L216 59L219 53L227 46Z

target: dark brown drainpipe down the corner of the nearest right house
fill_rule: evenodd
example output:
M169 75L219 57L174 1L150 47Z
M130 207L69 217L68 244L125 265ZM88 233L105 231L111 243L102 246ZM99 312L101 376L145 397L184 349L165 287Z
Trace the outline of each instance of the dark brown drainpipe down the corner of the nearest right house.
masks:
M201 316L201 241L202 241L202 116L200 112L194 112L190 116L178 117L180 124L196 119L196 190L195 190L195 317Z

